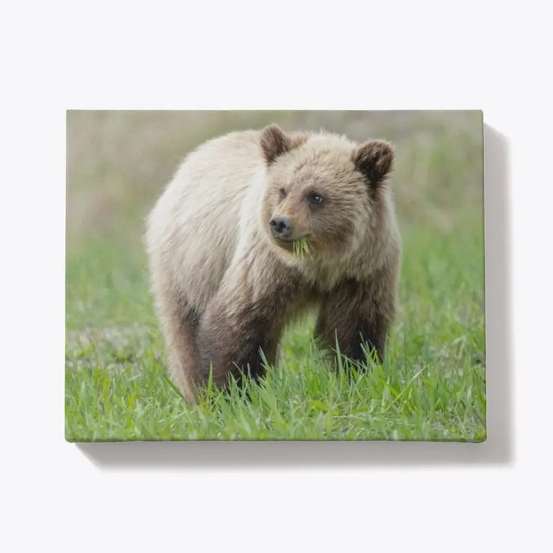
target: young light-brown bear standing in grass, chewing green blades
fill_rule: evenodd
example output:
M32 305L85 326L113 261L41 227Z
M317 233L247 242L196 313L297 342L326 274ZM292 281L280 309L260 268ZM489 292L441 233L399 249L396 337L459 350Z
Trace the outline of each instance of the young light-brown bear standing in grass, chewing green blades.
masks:
M221 389L230 375L263 377L308 311L321 346L363 364L365 345L383 361L402 256L394 163L386 140L277 124L187 154L145 232L169 373L186 400L210 371Z

